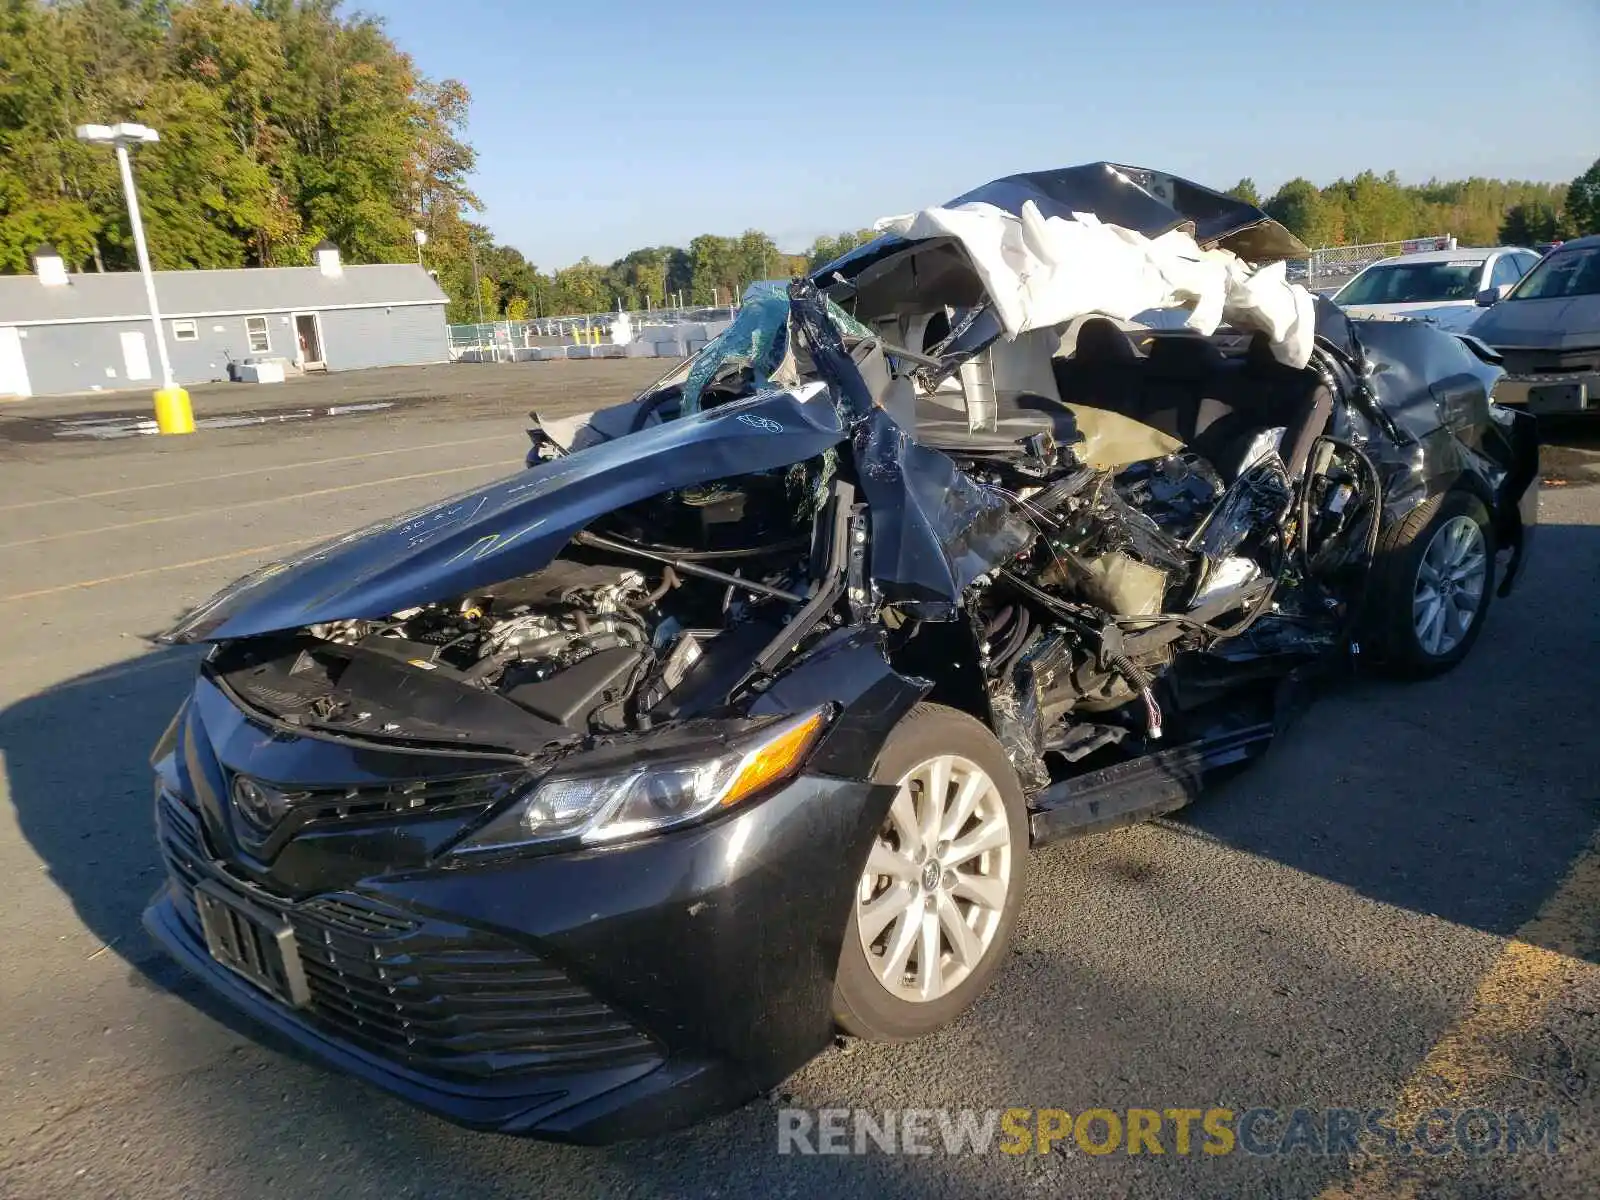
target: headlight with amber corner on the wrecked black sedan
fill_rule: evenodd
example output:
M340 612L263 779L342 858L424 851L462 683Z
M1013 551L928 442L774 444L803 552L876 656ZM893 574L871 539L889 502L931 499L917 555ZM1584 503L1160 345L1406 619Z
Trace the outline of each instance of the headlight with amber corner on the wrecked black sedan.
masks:
M813 709L768 725L715 758L546 779L451 853L555 838L595 845L699 821L794 778L826 725L827 709Z

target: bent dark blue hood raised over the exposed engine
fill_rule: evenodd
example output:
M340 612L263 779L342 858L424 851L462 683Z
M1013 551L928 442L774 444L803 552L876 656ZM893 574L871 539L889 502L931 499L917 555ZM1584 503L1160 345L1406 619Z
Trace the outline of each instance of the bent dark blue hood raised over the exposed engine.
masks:
M546 566L595 518L664 491L771 470L843 440L822 384L762 392L602 442L267 563L163 642L219 642L384 618Z

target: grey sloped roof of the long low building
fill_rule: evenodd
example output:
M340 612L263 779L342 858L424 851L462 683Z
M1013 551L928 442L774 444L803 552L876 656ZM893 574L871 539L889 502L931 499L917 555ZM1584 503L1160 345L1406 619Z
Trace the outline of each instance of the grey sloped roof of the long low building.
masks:
M67 275L67 286L46 288L37 275L0 275L0 325L54 325L147 317L138 272ZM293 312L296 309L443 304L445 293L414 262L347 266L338 277L317 267L245 267L240 270L157 270L162 317Z

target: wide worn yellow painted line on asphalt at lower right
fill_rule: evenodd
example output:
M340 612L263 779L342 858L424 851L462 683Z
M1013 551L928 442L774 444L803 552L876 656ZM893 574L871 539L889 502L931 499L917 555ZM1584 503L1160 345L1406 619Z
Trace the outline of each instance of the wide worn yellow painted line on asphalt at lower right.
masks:
M1501 950L1461 1011L1456 1024L1427 1051L1400 1088L1394 1128L1416 1128L1429 1109L1469 1107L1467 1101L1498 1080L1517 1075L1501 1050L1510 1035L1546 1024L1560 984L1595 950L1600 912L1600 835L1595 835L1538 915ZM1411 1163L1411 1173L1403 1163ZM1347 1181L1326 1187L1318 1200L1408 1200L1424 1179L1418 1160L1358 1158Z

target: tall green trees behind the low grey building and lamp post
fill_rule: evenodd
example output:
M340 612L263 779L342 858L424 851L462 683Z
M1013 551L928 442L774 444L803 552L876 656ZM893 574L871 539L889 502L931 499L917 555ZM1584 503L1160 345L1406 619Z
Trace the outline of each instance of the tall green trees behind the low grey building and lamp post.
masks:
M0 270L38 240L131 267L114 160L74 125L141 120L162 131L138 154L157 266L307 262L323 237L390 261L422 227L470 296L466 106L338 0L0 0Z

